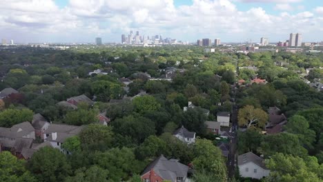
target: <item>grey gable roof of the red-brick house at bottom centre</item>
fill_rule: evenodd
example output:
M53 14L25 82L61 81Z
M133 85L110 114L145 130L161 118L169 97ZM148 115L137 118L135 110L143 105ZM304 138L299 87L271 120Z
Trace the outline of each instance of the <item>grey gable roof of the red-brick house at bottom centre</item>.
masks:
M157 157L152 163L150 163L141 174L144 175L150 170L154 170L158 176L164 180L176 181L177 176L186 177L188 172L188 166L179 163L177 160L168 160L163 155Z

